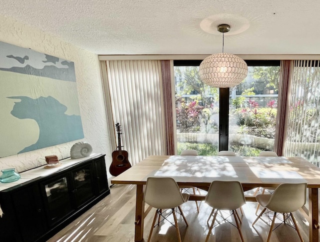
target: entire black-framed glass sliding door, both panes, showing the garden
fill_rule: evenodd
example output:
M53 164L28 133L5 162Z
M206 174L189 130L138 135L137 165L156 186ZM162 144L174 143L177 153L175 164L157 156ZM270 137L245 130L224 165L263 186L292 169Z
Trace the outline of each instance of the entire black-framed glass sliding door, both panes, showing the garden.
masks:
M199 63L174 61L178 154L185 148L200 155L222 149L247 156L273 150L279 61L249 63L243 83L221 89L202 83Z

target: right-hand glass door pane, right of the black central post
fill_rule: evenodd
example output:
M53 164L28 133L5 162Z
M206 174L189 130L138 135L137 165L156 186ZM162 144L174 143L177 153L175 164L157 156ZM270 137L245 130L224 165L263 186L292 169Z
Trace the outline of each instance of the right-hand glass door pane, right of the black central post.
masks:
M243 156L274 146L279 62L253 64L248 63L245 80L230 88L229 149Z

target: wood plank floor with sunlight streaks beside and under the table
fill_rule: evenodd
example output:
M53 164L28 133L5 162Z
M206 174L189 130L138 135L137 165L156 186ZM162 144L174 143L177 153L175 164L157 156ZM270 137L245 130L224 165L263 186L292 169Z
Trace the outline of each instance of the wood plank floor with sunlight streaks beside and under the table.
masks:
M107 197L83 213L48 241L134 241L134 208L135 186L115 184L110 187L110 194ZM186 226L182 217L178 216L182 241L204 241L208 232L206 220L211 208L204 201L200 202L199 213L197 213L194 201L187 201L181 208L189 223L189 226ZM247 202L242 206L241 230L243 237L245 241L249 242L266 241L269 225L261 219L255 223L254 227L251 225L256 218L255 208L256 202ZM151 209L144 220L143 241L147 241L153 215L154 208ZM304 241L308 241L307 220L302 217L299 211L294 212L294 215ZM277 224L280 223L278 222ZM151 241L177 241L175 228L169 222L160 224L160 227L154 228ZM221 222L212 229L209 241L241 241L241 239L237 229L233 225L228 222ZM272 232L271 241L294 242L300 240L293 228L281 224Z

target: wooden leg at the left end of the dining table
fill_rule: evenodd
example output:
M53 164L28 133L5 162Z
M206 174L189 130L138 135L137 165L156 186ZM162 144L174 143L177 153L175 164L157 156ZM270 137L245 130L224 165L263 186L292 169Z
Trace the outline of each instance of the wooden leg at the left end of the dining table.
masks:
M143 221L144 221L143 212L144 212L143 185L136 185L134 241L142 241L143 239Z

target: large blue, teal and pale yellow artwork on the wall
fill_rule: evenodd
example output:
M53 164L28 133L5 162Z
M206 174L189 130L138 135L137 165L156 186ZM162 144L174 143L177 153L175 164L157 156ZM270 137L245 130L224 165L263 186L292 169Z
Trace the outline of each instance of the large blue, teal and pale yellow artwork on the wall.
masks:
M74 63L0 41L0 157L83 138Z

